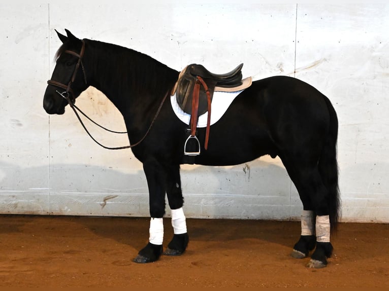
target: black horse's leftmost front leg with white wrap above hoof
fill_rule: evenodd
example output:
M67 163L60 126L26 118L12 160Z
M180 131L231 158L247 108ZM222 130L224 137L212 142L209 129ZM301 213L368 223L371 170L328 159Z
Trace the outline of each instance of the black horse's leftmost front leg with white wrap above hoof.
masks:
M155 262L163 253L166 170L156 160L144 162L143 169L149 189L150 236L148 244L139 251L138 256L133 260L135 263Z

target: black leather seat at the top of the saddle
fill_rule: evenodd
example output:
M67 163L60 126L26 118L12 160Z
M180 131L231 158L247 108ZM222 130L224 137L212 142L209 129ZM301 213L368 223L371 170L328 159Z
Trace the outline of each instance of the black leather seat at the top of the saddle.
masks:
M225 74L214 74L200 64L191 64L188 69L191 75L200 76L205 80L213 80L218 87L236 87L242 84L243 63Z

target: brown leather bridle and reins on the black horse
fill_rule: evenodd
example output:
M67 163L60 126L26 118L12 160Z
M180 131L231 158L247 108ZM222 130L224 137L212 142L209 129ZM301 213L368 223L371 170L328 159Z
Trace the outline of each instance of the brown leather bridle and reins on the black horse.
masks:
M169 95L169 92L170 90L166 93L164 99L161 101L161 103L159 104L159 107L158 107L158 110L153 118L153 120L151 121L151 124L149 126L149 128L147 129L145 135L136 143L134 144L130 144L130 145L126 145L124 147L115 147L115 148L110 148L110 147L106 147L105 145L101 144L99 141L97 141L88 131L88 129L86 128L86 126L84 125L84 123L82 122L79 114L77 113L77 111L79 111L83 116L85 116L89 121L91 121L92 123L94 123L95 125L103 128L104 130L106 131L109 131L109 132L113 132L113 133L127 133L126 131L125 132L121 132L121 131L113 131L113 130L110 130L110 129L107 129L103 126L101 126L100 124L94 122L92 119L90 119L85 113L83 113L80 108L78 108L76 106L76 97L74 96L74 92L72 90L72 84L74 82L74 80L76 79L76 75L77 75L77 71L81 65L81 68L82 68L82 72L84 74L84 81L85 81L85 84L87 84L86 82L86 74L85 74L85 68L84 68L84 65L82 64L82 57L84 56L84 51L85 51L85 41L84 40L81 40L82 42L82 47L81 47L81 51L79 54L73 52L73 51L69 51L69 50L66 50L64 51L64 53L67 53L67 54L71 54L71 55L74 55L78 58L78 61L77 61L77 64L76 64L76 67L74 69L74 72L73 72L73 75L72 75L72 78L70 79L68 85L65 85L65 84L62 84L60 82L57 82L57 81L53 81L53 80L48 80L47 81L47 84L49 85L53 85L53 86L56 86L56 87L59 87L59 88L62 88L62 89L65 89L66 91L63 91L62 93L57 91L56 92L62 97L64 98L66 101L68 101L70 107L72 108L72 110L74 111L74 113L76 114L77 116L77 119L80 121L82 127L84 128L84 130L86 131L86 133L89 135L89 137L97 144L99 144L102 148L104 149L108 149L108 150L123 150L123 149L129 149L129 148L134 148L136 147L136 145L140 144L147 136L147 134L149 133L151 127L153 126L157 116L159 115L159 112L161 111L161 108L162 106L164 105L165 103L165 100L166 98L168 97ZM70 93L70 94L69 94ZM72 96L72 98L70 97ZM76 111L77 110L77 111Z

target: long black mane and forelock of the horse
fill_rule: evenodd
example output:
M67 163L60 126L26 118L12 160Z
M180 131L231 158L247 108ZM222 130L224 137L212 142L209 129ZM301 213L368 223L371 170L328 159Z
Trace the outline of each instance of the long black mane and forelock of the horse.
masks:
M133 93L160 95L172 89L178 79L178 71L146 54L100 41L85 42L88 47L85 54L91 54L97 60L91 66L94 72L101 75L100 82L103 84L114 80L118 88ZM69 49L67 44L63 44L55 58Z

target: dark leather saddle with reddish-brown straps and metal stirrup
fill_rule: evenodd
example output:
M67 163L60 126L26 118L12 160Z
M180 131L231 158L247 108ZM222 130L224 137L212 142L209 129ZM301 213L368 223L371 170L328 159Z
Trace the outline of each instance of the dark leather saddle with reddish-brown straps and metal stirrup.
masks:
M176 94L177 102L181 109L190 114L190 135L184 145L184 155L200 155L200 142L196 136L198 117L208 112L207 128L204 148L208 148L211 102L215 88L235 88L242 85L243 63L226 74L213 74L203 65L190 64L180 73L179 79L172 95ZM189 140L195 139L199 151L186 150Z

